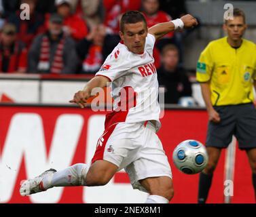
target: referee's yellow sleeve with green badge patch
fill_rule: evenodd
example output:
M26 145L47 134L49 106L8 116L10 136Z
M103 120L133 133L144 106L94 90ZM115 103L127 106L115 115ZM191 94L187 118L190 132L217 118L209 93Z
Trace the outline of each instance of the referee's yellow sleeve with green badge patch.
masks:
M196 80L198 82L210 81L213 71L213 58L211 56L211 44L201 53L196 65Z

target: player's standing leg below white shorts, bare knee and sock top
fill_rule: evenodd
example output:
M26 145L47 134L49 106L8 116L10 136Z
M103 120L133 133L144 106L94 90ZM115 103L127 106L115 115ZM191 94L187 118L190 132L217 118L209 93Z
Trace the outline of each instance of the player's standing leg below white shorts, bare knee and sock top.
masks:
M168 176L145 178L139 182L149 192L145 203L169 203L174 195L172 179Z

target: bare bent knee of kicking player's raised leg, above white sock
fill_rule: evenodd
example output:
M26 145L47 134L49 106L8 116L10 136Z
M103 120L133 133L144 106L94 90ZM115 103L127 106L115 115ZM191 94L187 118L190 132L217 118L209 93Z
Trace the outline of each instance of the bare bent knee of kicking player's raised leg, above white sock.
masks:
M113 178L117 172L117 165L109 161L98 160L92 163L86 176L86 186L102 186Z

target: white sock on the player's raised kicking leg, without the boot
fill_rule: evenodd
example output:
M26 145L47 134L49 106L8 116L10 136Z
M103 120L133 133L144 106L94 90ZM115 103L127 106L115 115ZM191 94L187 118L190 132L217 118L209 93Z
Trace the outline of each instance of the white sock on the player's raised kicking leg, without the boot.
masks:
M47 190L54 186L85 186L84 182L89 165L77 163L65 170L60 170L42 180L43 189Z

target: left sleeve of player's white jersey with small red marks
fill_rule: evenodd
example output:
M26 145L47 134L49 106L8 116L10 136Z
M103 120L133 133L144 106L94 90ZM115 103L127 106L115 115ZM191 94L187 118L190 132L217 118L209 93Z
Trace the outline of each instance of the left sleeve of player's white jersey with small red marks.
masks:
M124 76L131 68L128 55L128 52L124 50L114 49L95 76L102 75L107 77L111 82Z

